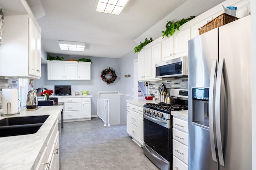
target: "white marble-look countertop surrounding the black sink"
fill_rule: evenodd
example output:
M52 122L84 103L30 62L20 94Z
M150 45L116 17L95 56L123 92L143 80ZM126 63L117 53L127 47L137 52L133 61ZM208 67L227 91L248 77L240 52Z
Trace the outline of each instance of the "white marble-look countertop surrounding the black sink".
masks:
M50 116L34 134L0 137L0 169L34 170L61 111L62 106L41 106L35 111L26 111L26 107L20 109L18 116ZM6 117L0 117L0 119L4 118Z

